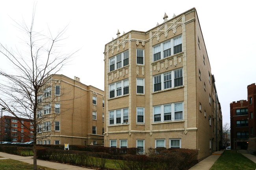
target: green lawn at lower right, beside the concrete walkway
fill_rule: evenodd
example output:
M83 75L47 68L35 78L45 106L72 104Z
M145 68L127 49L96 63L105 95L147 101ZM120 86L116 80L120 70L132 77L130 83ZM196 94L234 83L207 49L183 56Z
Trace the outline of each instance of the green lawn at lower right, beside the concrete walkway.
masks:
M236 150L225 150L210 170L254 170L256 163L252 162Z

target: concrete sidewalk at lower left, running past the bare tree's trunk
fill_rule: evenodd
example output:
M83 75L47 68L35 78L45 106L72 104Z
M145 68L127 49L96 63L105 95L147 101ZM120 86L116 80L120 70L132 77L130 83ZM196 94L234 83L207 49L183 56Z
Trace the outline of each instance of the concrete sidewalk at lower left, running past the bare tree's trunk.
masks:
M24 157L24 156L18 156L18 155L11 155L11 154L6 154L4 152L0 152L0 156L4 157L1 159L14 159L17 161L22 161L22 162L26 162L26 163L30 163L33 164L33 157L28 156L28 157ZM54 162L50 162L50 161L43 161L43 160L39 160L37 159L37 165L40 166L45 166L48 168L53 168L56 170L92 170L89 168L82 168L79 166L73 166L73 165L67 165L67 164L62 164L62 163L54 163Z

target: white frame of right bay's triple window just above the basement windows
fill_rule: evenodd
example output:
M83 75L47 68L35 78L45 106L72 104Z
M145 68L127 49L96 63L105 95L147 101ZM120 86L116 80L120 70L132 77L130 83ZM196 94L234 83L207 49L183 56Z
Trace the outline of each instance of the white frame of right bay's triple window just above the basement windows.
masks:
M180 104L182 103L182 119L175 119L175 104ZM174 102L174 103L168 103L168 104L162 104L162 105L156 105L156 106L153 106L153 123L155 122L167 122L167 121L164 121L164 106L166 105L170 105L171 104L171 120L167 120L167 121L180 121L180 120L184 120L184 103L183 101L182 102ZM155 107L161 107L161 121L154 121L154 115L155 115L155 110L154 108Z

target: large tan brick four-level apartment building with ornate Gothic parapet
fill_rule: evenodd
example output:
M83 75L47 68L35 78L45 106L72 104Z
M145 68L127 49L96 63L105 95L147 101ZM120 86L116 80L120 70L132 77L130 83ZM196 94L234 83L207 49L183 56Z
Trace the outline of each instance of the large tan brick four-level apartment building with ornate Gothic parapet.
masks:
M104 145L219 150L222 113L195 8L105 45Z

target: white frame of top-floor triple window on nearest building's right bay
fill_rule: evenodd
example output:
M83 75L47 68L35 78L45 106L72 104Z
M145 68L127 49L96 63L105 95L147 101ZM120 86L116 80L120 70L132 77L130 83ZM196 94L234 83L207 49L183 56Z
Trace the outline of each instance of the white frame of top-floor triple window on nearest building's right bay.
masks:
M169 42L170 41L170 43L171 43L171 54L169 55L169 56L172 56L172 55L175 55L174 54L174 39L176 39L176 38L180 38L181 37L181 41L182 41L182 35L178 35L178 36L176 36L176 37L174 37L174 38L170 38L170 39L168 39L168 40L166 40L166 41L164 41L164 42L161 42L161 43L159 43L159 44L156 44L155 46L153 46L152 47L152 53L153 53L153 55L152 55L152 61L153 62L155 62L155 61L158 61L158 60L154 60L154 54L155 54L155 50L154 50L154 48L156 48L156 47L158 47L158 46L160 46L160 52L161 52L161 57L160 57L160 59L159 60L161 60L161 59L163 59L164 58L164 56L163 56L163 51L165 51L164 50L164 48L163 48L163 44L165 44L165 43L167 43L167 42ZM181 44L183 44L182 42L181 42ZM169 48L168 48L169 49ZM182 51L183 51L183 48L182 48ZM157 53L159 53L159 52L157 52ZM177 54L177 53L176 53ZM169 56L167 56L167 57L169 57Z

